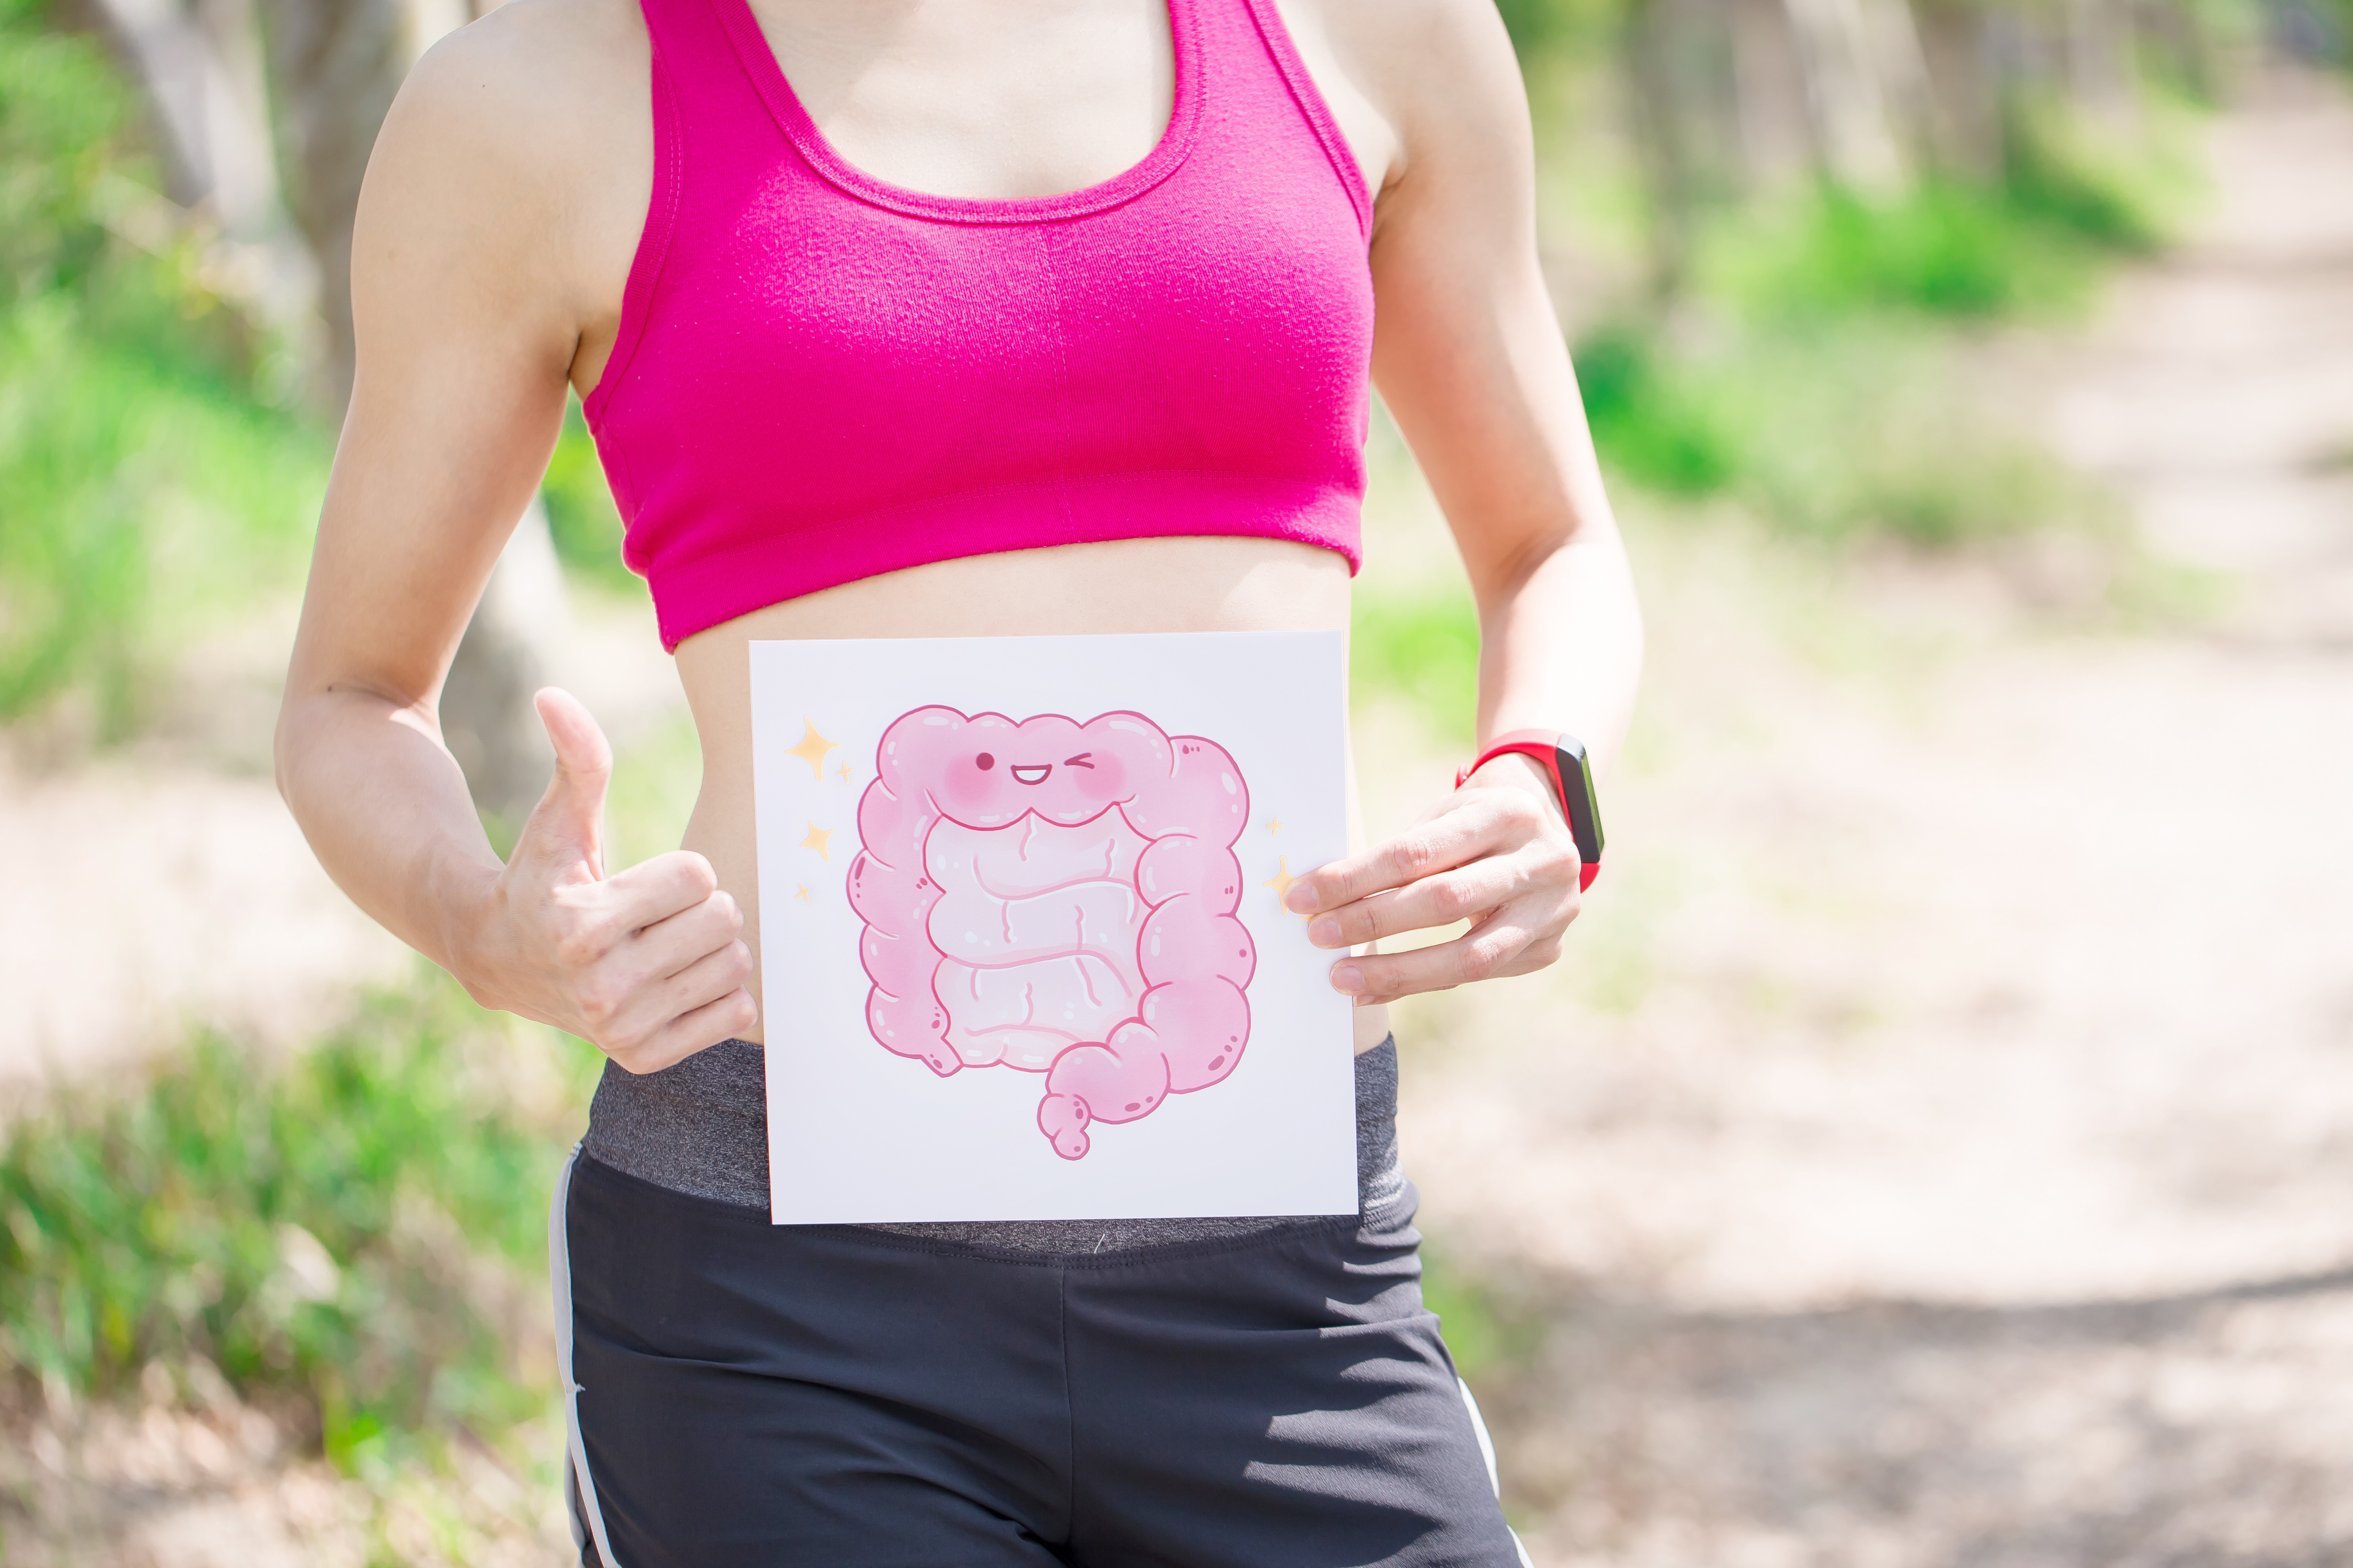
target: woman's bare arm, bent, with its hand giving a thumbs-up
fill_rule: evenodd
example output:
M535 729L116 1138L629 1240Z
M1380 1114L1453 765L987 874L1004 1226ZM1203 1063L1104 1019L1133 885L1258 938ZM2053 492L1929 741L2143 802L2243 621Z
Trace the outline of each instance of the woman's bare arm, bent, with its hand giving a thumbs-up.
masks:
M438 45L369 160L351 266L358 378L278 719L278 788L336 884L478 1001L645 1072L751 1027L734 900L685 851L605 877L612 752L558 691L539 698L555 780L501 865L438 715L466 618L546 468L584 331L619 301L652 183L652 146L631 143L649 136L645 38L631 75L628 31L600 35L579 26L595 7L567 9L548 26L546 7L518 5ZM638 115L609 113L631 101ZM616 186L619 202L584 197Z

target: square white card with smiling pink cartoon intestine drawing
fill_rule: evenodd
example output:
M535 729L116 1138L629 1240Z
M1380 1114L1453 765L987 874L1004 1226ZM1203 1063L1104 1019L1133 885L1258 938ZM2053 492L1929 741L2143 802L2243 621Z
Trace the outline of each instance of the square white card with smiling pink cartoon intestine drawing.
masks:
M1355 1213L1344 658L753 642L774 1220Z

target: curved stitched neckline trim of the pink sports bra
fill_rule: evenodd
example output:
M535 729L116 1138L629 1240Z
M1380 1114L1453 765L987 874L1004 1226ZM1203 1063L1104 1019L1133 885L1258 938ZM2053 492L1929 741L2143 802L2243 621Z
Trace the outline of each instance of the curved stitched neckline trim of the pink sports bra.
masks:
M1160 141L1153 143L1153 150L1146 153L1141 162L1129 165L1106 181L1066 190L1061 195L1035 197L934 195L929 190L894 186L887 179L878 179L866 169L859 169L854 162L842 158L831 141L826 141L816 120L809 118L807 106L802 106L800 94L784 73L784 63L769 47L767 35L760 31L760 19L753 14L751 0L711 0L711 7L727 33L727 42L734 45L734 54L741 61L744 73L751 78L753 89L776 120L776 129L784 132L784 136L793 143L793 150L798 150L800 158L831 186L859 197L861 202L918 219L939 219L948 223L1052 223L1118 207L1120 202L1144 195L1174 174L1179 165L1184 165L1186 153L1193 148L1193 132L1200 122L1200 66L1193 28L1193 0L1162 2L1167 5L1169 19L1174 94L1169 101L1169 122L1162 127Z

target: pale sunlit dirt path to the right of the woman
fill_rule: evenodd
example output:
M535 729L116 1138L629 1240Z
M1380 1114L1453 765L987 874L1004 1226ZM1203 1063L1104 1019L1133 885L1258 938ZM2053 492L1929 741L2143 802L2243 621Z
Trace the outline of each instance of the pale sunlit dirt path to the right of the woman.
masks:
M2207 628L1640 534L1577 961L1409 1023L1539 1563L2353 1559L2353 101L2212 155L2047 367Z

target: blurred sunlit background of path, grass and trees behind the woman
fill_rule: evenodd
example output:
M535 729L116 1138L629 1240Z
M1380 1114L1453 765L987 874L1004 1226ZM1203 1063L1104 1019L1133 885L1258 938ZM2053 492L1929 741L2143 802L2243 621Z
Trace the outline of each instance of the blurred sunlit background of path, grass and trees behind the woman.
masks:
M351 207L464 0L0 0L0 1561L553 1563L482 1016L268 778ZM2348 0L1508 0L1652 625L1548 976L1400 1009L1431 1305L1544 1566L2353 1561ZM1377 832L1475 628L1377 421ZM574 411L468 632L678 842Z

